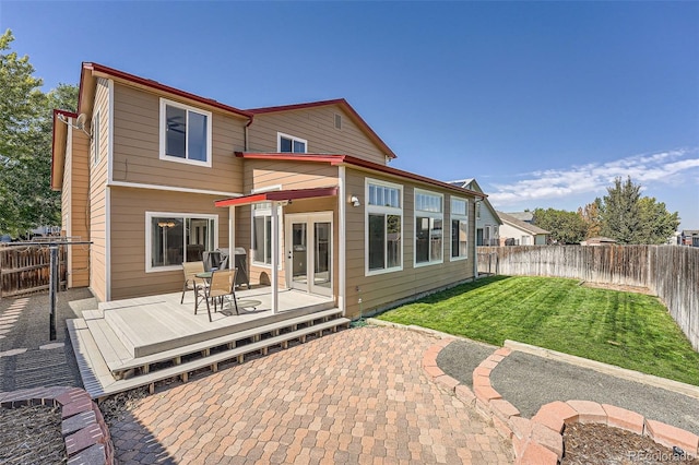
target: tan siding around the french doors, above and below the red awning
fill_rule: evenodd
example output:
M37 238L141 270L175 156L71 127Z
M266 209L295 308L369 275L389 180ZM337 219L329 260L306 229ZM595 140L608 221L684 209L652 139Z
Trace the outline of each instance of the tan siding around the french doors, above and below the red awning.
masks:
M337 186L337 168L328 164L311 164L298 162L269 162L248 159L245 163L245 192L251 193L253 190L270 187L280 187L283 190L310 189ZM330 199L330 200L329 200ZM286 205L282 213L307 213L336 211L336 198L323 198L311 200L294 201ZM241 206L236 208L236 247L245 247L248 253L248 264L250 272L250 283L260 284L270 282L270 267L252 264L252 226L251 207ZM280 216L282 224L281 243L284 251L284 217ZM333 227L336 234L336 218L333 219ZM279 272L279 283L285 287L285 259L286 253L281 257L282 269ZM335 273L336 276L336 273ZM336 289L336 287L333 287Z

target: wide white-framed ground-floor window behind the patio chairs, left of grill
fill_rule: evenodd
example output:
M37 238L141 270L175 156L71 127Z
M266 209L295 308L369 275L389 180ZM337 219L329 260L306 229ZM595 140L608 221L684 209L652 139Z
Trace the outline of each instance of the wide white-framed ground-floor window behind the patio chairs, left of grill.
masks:
M146 271L178 270L217 247L217 215L146 212Z

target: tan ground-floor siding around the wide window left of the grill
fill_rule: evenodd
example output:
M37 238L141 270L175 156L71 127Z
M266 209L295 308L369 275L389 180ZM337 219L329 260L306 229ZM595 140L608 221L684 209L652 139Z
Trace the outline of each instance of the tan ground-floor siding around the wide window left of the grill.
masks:
M110 200L112 300L182 289L181 270L145 272L146 212L218 215L217 247L228 247L228 208L215 207L215 196L110 188Z

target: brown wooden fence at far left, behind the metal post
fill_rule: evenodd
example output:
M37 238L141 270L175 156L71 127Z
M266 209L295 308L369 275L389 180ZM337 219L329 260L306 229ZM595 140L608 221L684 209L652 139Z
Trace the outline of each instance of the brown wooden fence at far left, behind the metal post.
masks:
M59 281L66 285L66 247L59 247ZM46 246L0 246L0 298L47 290L51 252Z

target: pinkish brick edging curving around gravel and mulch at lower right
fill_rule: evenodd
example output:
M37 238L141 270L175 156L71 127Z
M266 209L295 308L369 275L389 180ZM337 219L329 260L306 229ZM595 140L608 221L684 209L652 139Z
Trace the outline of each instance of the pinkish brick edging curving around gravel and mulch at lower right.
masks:
M442 388L476 409L484 418L493 420L498 432L512 441L517 464L558 464L564 456L562 431L566 425L602 424L648 436L659 444L682 448L688 455L699 457L699 437L689 431L608 404L590 401L552 402L543 405L532 419L520 417L520 412L493 389L490 372L511 354L502 347L483 360L473 370L473 391L446 374L437 366L437 356L453 338L440 339L423 356L427 375Z

